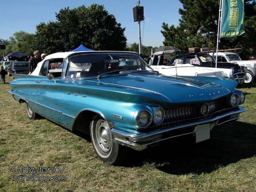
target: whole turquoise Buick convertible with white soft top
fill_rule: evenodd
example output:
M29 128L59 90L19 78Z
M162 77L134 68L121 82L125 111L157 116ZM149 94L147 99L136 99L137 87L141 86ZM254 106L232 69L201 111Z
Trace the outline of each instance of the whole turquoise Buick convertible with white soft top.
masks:
M52 69L58 62L61 70ZM87 51L46 56L31 75L14 74L9 93L25 103L29 119L44 116L90 134L97 156L117 164L126 147L143 150L184 135L209 139L213 127L245 111L236 85L226 78L164 76L135 52Z

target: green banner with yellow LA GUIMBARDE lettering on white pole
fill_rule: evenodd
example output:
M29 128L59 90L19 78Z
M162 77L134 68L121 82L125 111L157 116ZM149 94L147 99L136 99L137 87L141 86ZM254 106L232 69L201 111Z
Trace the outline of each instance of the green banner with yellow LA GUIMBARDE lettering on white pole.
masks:
M244 34L244 0L222 0L220 37Z

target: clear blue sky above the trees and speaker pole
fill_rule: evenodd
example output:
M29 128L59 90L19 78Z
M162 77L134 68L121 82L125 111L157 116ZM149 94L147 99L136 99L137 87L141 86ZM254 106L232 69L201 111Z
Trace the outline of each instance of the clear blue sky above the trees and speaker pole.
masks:
M113 14L122 28L127 43L138 43L138 22L133 21L132 8L138 0L0 0L0 38L9 39L17 31L35 33L40 22L56 21L55 12L60 9L91 4L104 5L109 14ZM144 7L145 20L140 22L141 41L144 46L158 47L163 45L164 37L160 32L163 22L169 26L179 25L179 0L140 0Z

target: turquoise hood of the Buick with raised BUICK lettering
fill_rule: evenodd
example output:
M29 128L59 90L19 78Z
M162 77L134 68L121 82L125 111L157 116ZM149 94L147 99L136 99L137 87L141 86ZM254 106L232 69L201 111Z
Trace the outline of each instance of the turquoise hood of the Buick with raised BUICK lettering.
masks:
M129 94L167 102L209 101L229 94L237 85L234 80L216 77L141 74L109 76L85 82L99 85L102 94L104 91L114 91L115 94Z

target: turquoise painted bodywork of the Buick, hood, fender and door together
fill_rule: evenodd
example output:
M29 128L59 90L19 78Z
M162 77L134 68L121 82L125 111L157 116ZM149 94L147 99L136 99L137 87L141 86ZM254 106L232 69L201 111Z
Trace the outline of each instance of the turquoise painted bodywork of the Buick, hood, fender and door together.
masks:
M108 121L115 122L116 126L134 129L130 122L133 122L138 109L150 110L147 106L168 107L170 102L189 103L199 99L204 103L227 95L229 89L237 84L234 80L216 77L191 79L189 76L175 78L143 74L56 81L46 77L15 75L11 84L16 90L16 99L26 98L32 110L70 130L76 116L84 110L97 112ZM113 117L113 110L123 119Z

